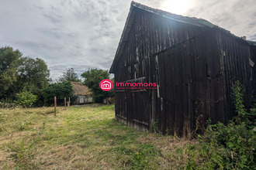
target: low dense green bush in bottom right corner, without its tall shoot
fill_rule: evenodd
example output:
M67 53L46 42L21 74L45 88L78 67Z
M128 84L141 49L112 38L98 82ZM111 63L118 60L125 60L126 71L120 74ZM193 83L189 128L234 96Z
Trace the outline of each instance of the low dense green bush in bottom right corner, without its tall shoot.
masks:
M255 131L245 124L209 125L199 145L189 146L187 168L248 169L254 165Z

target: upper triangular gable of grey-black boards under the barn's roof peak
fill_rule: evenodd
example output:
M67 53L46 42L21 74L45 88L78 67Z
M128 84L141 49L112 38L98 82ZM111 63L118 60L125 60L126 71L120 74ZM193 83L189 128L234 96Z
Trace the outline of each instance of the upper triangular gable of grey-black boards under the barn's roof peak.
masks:
M138 63L144 58L185 42L202 32L202 27L192 26L182 22L161 17L151 12L137 10L136 18L130 30L126 46L119 59L117 70L126 66L134 66L134 73L129 74L126 79L140 77ZM116 71L117 71L116 70Z

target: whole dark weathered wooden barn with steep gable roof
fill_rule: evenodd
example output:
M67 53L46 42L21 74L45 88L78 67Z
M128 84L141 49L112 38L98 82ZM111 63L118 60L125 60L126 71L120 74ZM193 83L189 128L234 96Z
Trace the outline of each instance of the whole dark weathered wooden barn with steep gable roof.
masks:
M236 80L246 88L247 108L253 100L255 47L204 19L132 2L109 73L116 83L157 87L116 89L116 120L169 134L195 130L209 117L227 122Z

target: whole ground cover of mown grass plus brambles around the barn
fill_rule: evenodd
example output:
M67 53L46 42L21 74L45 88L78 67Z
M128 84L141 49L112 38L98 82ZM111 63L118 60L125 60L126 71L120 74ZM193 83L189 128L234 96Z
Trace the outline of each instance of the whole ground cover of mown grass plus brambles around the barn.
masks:
M114 105L0 109L0 168L254 169L255 107L244 110L240 87L237 117L190 141L129 128Z

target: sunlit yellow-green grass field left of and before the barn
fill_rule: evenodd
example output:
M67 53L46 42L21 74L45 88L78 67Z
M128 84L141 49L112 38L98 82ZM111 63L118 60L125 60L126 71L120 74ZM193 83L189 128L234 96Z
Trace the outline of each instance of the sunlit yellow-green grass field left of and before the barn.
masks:
M185 139L126 127L114 106L0 109L2 169L183 169Z

